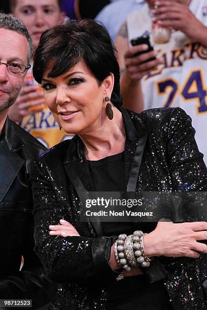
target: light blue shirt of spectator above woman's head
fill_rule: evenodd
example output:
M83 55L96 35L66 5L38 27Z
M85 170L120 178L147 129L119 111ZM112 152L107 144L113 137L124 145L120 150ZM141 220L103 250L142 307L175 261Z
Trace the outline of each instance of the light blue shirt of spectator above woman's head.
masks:
M139 10L143 7L143 0L118 0L104 7L95 17L96 21L100 21L108 30L112 41L118 35L118 32L125 21L128 14Z

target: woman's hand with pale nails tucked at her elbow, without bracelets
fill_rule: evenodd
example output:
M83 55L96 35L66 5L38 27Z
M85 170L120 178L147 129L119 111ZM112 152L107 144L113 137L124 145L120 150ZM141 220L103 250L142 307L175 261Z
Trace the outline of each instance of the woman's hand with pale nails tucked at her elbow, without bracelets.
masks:
M49 229L50 229L49 234L51 236L54 235L61 237L80 236L76 228L72 224L63 219L60 220L60 225L50 225Z

